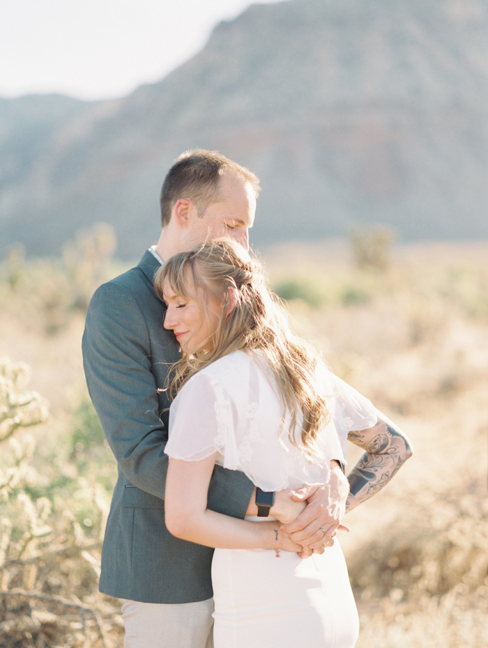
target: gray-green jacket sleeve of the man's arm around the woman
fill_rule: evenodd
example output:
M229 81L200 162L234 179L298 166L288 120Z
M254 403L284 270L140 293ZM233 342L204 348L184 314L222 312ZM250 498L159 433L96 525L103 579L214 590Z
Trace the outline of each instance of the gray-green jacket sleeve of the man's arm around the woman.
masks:
M151 339L149 316L128 288L104 284L90 302L82 348L89 394L123 474L164 499L167 425L153 373L153 363L165 362L164 346ZM216 466L208 507L242 518L252 488L242 473Z

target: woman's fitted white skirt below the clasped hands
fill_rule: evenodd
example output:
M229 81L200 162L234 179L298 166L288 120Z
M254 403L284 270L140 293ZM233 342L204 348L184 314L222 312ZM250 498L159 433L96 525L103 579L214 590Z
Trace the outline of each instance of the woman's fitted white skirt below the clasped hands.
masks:
M215 549L215 648L353 648L359 622L340 544L302 560Z

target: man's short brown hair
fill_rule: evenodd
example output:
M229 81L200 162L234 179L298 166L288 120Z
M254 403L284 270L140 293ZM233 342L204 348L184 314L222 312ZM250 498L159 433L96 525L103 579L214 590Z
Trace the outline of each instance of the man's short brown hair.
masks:
M162 185L161 226L169 223L174 203L181 198L192 201L199 217L204 215L209 205L222 200L220 178L224 171L231 171L243 182L250 183L258 196L259 179L241 164L220 155L218 151L205 151L203 148L185 151L169 169Z

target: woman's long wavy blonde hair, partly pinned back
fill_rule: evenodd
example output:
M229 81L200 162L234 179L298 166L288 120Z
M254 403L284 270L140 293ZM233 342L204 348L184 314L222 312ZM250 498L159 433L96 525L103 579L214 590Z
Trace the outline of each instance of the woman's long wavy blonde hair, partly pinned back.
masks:
M323 360L312 345L291 330L288 312L268 289L260 263L236 241L220 238L176 254L162 265L154 279L160 298L165 280L183 299L195 299L196 295L202 322L208 317L207 295L223 306L211 336L213 344L205 341L191 355L183 353L174 364L171 398L211 362L233 351L259 349L275 376L283 421L287 409L291 414L291 442L298 446L294 430L303 419L301 440L308 454L313 454L317 433L330 420L326 396L316 378L317 364Z

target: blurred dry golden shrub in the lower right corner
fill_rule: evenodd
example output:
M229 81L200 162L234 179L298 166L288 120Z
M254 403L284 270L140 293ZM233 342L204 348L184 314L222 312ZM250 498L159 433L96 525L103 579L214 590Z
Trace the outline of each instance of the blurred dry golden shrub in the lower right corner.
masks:
M386 537L365 543L349 560L363 610L358 648L487 645L487 535L481 479L409 497Z

